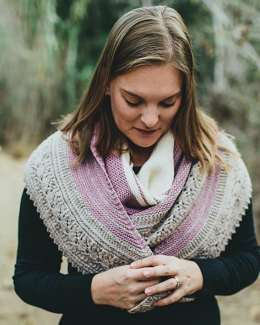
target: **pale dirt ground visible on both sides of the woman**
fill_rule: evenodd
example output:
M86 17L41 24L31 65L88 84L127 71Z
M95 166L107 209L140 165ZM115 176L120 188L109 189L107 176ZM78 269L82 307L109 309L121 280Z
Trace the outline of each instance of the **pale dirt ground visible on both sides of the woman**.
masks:
M24 165L25 160L14 160L0 152L0 324L57 325L60 315L25 304L13 289L17 218ZM222 325L260 324L260 279L240 293L231 297L219 297L218 300Z

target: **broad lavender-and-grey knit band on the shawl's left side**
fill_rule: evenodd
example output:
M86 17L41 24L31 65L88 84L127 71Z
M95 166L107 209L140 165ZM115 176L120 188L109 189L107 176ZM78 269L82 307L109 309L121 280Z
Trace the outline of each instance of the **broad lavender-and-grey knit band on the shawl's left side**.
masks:
M72 165L76 157L71 149L69 155ZM87 164L72 169L74 181L81 197L93 216L105 225L106 230L110 231L112 236L117 236L130 245L144 248L146 244L136 232L133 222L125 213L111 184L106 181L106 175L98 167L95 160L89 159ZM96 186L96 184L100 186ZM92 190L89 191L89 188Z

